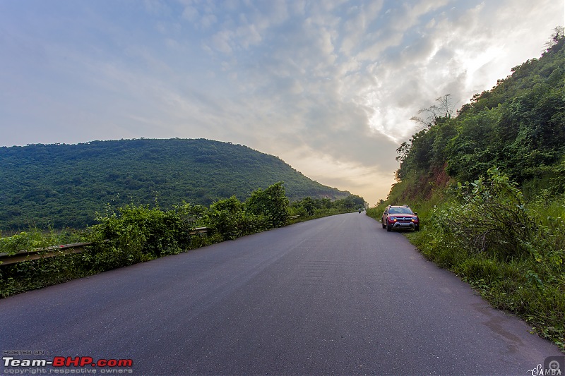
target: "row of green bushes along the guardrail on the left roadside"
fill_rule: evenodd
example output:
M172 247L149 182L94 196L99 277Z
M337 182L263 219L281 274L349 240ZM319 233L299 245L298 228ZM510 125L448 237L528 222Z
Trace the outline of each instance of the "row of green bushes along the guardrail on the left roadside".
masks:
M57 257L0 265L0 296L5 298L299 221L352 212L364 205L364 199L357 195L333 201L307 197L290 204L280 182L254 190L243 202L232 196L209 207L187 202L169 210L149 205L108 205L97 214L97 224L88 229L32 228L0 237L0 253L8 255L52 245L91 243L82 253L64 255L61 251ZM198 234L198 227L206 227L208 232Z

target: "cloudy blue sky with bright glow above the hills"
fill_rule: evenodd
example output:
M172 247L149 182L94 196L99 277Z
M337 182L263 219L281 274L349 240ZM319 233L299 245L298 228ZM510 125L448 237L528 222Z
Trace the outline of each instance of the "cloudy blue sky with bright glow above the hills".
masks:
M564 0L0 0L0 146L208 138L374 205L412 116L564 24Z

